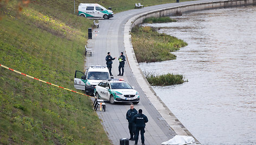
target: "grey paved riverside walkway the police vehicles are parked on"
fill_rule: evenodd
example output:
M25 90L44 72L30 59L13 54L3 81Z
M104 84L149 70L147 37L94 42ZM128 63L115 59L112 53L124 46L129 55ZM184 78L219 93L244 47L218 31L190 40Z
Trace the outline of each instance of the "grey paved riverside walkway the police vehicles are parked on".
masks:
M89 39L87 43L87 47L92 49L92 56L86 57L86 65L106 65L105 57L108 51L111 52L112 57L119 57L121 51L123 51L124 55L126 55L124 49L124 26L131 17L150 10L202 2L208 1L193 1L149 6L143 9L120 12L115 14L111 19L100 19L99 28L95 28L93 30L92 39ZM148 116L149 122L146 123L145 128L145 144L161 144L162 142L168 141L177 135L177 133L175 133L175 131L159 114L157 109L152 105L148 97L146 97L135 76L133 75L128 63L125 63L124 76L117 76L118 64L118 60L113 61L112 73L114 78L124 78L125 81L129 82L135 87L140 94L140 102L135 105L135 108L137 110L142 109L143 114ZM107 135L113 144L119 144L120 138L130 137L128 122L126 121L125 117L128 109L130 109L130 103L114 105L106 103L106 112L97 111L99 118L103 122ZM185 129L181 123L179 123L179 126ZM130 141L130 144L134 144L134 141ZM138 144L141 144L140 140L138 141Z

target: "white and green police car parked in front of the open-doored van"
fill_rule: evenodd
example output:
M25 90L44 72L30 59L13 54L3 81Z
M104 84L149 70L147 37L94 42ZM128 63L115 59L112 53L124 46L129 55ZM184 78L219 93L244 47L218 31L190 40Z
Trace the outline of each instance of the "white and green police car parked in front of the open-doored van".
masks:
M94 96L110 101L139 103L139 93L131 85L123 80L106 80L99 82L94 89Z

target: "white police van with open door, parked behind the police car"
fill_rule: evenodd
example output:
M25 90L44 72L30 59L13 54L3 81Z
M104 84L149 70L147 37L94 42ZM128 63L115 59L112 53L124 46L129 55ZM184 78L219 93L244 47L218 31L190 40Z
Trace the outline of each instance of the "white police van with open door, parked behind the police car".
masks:
M102 80L107 80L110 72L107 67L100 65L90 65L87 67L85 74L81 71L75 71L74 87L75 89L85 90L86 93L94 93L94 87Z

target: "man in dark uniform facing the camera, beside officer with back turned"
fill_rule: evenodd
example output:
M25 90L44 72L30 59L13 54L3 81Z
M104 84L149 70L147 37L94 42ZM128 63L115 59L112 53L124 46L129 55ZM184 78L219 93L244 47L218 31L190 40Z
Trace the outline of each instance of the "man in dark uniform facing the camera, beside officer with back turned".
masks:
M132 141L135 141L135 123L132 122L133 116L138 114L138 111L134 108L133 104L131 104L130 109L126 113L126 120L129 122L128 128L130 131L130 139ZM134 136L134 137L133 137Z

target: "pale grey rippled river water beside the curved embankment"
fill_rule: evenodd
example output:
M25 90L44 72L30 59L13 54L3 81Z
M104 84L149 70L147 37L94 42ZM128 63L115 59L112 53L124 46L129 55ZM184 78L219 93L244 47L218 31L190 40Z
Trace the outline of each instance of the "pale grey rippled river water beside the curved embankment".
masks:
M256 6L193 12L147 24L188 43L176 60L140 63L143 71L188 82L153 87L202 144L256 144Z

